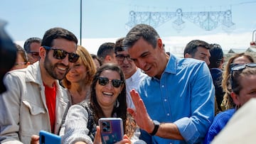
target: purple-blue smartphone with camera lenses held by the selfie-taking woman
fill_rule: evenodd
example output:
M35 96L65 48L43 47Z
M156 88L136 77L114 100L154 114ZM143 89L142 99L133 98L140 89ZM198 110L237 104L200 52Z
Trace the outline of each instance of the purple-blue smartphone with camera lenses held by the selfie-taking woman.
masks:
M113 144L122 140L124 135L122 118L100 118L99 125L102 144Z

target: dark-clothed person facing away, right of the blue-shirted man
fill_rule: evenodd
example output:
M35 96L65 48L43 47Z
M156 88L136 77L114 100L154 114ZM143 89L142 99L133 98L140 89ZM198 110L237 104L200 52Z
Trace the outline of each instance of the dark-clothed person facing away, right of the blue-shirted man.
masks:
M216 107L215 114L222 111L221 103L223 101L223 88L221 87L222 74L223 74L223 63L224 63L224 53L220 45L218 44L210 44L210 65L208 65L210 69L210 74L213 77L213 84L215 87L215 99L216 99Z

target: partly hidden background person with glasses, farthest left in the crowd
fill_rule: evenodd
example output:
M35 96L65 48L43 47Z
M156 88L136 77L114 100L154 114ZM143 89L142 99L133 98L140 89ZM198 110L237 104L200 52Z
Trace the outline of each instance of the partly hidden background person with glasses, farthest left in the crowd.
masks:
M15 47L17 49L17 57L14 67L12 67L11 70L18 70L28 67L30 62L28 62L26 51L20 45L15 44Z

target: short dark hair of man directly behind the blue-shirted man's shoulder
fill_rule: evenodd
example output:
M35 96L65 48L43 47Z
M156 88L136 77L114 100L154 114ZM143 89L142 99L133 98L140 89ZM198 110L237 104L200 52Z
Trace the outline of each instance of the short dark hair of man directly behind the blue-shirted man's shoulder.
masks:
M210 50L210 45L208 43L206 43L203 40L191 40L185 47L184 49L184 57L186 55L186 53L188 53L189 55L192 55L192 57L195 55L195 53L197 52L197 48L198 47L203 47L206 48L207 50Z

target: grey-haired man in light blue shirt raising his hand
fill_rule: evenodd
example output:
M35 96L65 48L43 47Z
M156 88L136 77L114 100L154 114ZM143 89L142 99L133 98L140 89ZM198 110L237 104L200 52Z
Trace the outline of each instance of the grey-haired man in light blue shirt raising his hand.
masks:
M146 78L131 96L128 109L142 129L146 143L201 143L214 117L214 87L201 60L166 55L151 26L134 26L124 48Z

